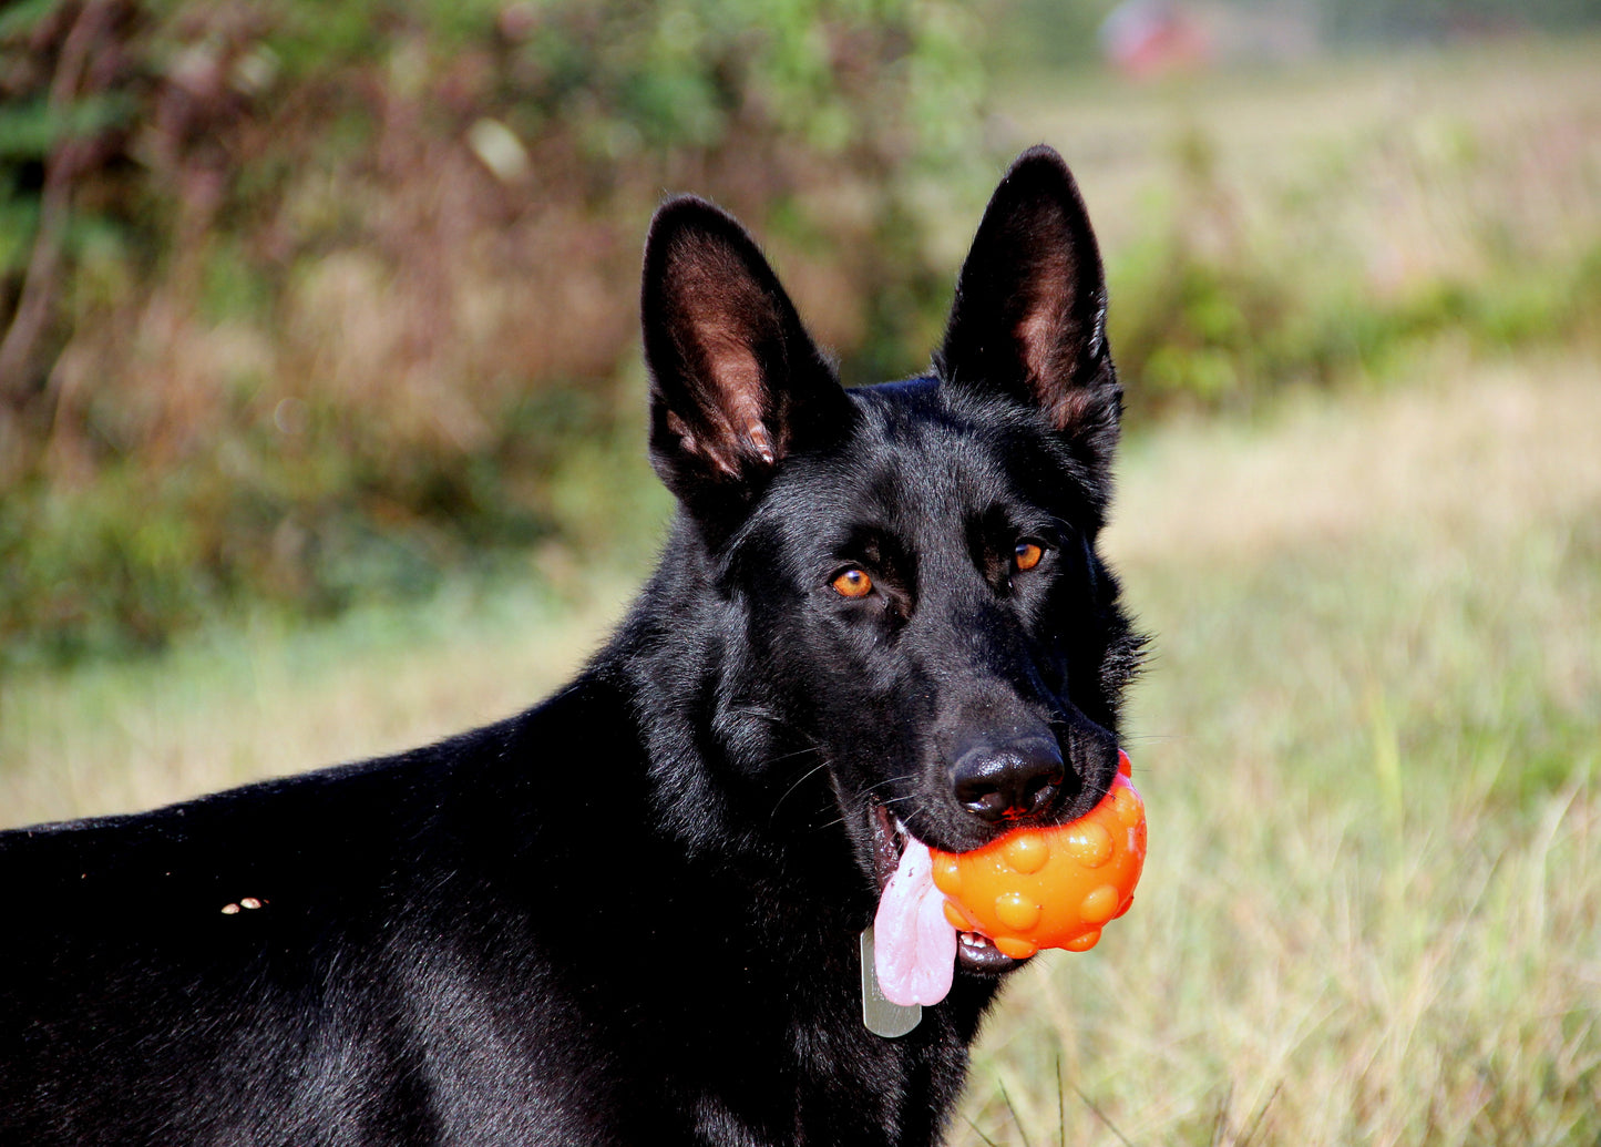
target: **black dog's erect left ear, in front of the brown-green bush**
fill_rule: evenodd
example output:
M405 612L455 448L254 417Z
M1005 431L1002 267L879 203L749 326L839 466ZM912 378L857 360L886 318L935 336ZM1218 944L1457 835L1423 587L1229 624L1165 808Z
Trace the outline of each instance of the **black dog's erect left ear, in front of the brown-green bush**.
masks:
M788 453L850 420L850 400L756 242L703 199L656 211L640 317L650 457L679 498L743 498Z

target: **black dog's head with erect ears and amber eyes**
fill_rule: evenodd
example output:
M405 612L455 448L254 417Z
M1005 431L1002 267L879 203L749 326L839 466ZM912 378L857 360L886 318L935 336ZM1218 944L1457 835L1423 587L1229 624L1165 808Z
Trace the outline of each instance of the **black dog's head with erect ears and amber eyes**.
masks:
M728 639L706 732L780 801L825 766L863 873L1087 812L1140 639L1097 553L1121 389L1073 176L1023 154L933 373L845 391L756 243L698 199L645 255L652 458ZM970 950L973 969L1012 961Z

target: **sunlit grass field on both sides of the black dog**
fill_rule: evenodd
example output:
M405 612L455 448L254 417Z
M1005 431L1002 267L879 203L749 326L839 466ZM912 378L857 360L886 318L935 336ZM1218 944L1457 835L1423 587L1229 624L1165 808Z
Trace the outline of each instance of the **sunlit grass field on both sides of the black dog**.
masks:
M1601 364L1425 373L1449 381L1129 444L1150 863L1093 953L1009 988L954 1144L1601 1136ZM626 594L573 577L0 681L0 822L509 713Z

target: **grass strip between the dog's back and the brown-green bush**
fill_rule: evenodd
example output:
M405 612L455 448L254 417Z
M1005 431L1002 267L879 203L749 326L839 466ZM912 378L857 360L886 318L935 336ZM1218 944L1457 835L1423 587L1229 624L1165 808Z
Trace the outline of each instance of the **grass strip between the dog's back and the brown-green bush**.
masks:
M597 647L626 599L443 594L319 631L253 626L131 665L0 678L0 825L125 812L419 745L509 716Z

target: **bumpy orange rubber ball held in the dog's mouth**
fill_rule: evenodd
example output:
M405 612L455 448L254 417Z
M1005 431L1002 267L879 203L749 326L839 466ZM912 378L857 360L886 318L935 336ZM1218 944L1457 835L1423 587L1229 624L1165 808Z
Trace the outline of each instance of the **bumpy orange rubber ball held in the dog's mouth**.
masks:
M1101 926L1129 910L1143 867L1145 801L1117 750L1111 791L1087 814L1018 828L972 852L933 852L933 886L953 926L1025 960L1041 948L1093 948Z

